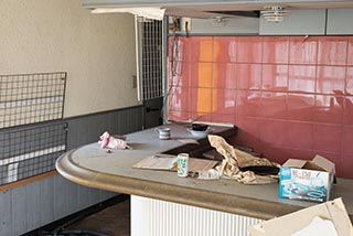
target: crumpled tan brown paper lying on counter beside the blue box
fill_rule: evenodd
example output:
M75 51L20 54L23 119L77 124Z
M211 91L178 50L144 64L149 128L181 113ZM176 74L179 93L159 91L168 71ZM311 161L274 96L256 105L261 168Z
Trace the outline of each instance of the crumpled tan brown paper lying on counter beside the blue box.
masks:
M222 178L234 179L244 184L267 184L278 181L279 175L258 175L253 171L242 171L247 167L277 167L278 163L265 158L257 158L229 146L222 137L208 135L208 141L224 159L216 170Z

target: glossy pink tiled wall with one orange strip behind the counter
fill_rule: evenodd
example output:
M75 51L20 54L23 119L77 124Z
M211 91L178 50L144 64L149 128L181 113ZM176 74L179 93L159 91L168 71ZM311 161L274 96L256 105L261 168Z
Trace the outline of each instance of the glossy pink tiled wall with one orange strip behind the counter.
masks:
M282 163L319 153L353 179L353 36L169 40L169 119L232 122Z

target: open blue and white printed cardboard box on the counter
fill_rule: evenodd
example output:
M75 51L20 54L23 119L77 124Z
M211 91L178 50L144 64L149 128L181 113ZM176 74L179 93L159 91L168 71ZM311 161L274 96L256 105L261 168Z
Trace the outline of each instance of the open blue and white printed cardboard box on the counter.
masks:
M312 161L289 159L280 168L279 197L325 202L334 180L334 163L315 155Z

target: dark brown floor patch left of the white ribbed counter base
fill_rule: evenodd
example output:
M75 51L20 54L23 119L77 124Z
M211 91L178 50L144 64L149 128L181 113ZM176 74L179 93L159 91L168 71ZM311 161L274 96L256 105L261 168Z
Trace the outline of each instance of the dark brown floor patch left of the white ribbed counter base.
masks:
M130 201L124 201L89 215L68 227L69 229L95 230L109 236L130 235Z

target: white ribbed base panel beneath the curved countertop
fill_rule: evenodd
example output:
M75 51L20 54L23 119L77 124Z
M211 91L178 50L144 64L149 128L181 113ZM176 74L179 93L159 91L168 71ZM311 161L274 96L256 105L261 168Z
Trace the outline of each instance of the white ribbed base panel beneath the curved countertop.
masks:
M246 236L263 219L131 195L131 236Z

